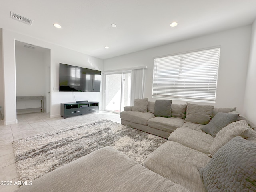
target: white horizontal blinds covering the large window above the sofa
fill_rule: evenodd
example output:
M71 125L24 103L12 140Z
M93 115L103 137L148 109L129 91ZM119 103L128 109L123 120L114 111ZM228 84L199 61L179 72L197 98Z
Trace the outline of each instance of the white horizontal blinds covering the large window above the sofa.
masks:
M154 59L153 97L215 101L220 48Z

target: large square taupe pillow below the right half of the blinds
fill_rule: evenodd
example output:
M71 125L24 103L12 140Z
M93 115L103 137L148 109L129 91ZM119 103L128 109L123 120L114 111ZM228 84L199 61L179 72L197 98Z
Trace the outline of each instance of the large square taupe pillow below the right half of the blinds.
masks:
M185 122L206 125L211 120L213 105L196 105L187 103Z

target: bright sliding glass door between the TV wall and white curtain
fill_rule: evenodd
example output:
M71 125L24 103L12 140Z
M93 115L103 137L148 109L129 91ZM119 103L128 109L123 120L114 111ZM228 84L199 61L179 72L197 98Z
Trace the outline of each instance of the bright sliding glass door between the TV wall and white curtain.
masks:
M105 110L120 113L131 104L131 72L105 74Z

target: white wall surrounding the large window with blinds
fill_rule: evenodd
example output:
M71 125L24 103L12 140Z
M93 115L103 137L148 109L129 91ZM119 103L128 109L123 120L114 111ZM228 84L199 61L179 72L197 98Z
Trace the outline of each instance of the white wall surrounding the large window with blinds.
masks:
M144 98L152 99L153 58L220 46L220 64L216 90L216 107L233 107L242 112L248 56L250 50L251 26L244 26L224 32L184 40L148 50L134 52L104 60L104 70L115 70L147 65ZM173 100L184 104L187 101Z

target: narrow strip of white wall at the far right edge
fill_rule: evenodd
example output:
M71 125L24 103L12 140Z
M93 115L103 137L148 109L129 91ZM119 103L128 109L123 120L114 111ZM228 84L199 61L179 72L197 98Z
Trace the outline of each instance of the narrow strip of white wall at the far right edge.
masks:
M250 58L244 96L244 115L256 124L256 20L252 25Z

